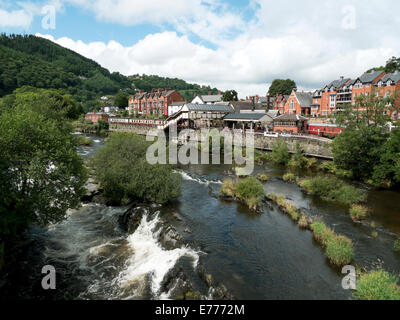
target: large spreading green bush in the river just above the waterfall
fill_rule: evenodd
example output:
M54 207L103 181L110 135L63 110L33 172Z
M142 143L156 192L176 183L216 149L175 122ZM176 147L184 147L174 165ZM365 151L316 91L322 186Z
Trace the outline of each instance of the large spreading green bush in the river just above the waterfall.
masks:
M114 204L123 200L164 204L180 195L181 177L169 165L151 165L151 144L132 133L113 133L91 160L105 196Z

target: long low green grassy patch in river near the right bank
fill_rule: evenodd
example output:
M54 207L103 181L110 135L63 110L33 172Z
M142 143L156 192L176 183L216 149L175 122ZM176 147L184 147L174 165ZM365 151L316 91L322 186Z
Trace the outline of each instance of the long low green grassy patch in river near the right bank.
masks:
M326 201L337 201L343 205L362 203L365 193L335 177L318 176L311 179L298 180L300 188L311 195Z

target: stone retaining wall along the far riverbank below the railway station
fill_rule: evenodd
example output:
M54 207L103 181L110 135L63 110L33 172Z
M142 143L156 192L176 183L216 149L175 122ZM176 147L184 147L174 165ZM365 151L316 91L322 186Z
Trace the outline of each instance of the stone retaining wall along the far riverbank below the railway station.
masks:
M158 130L155 127L113 124L110 126L110 131L135 132L139 135L147 135L150 131L154 131L152 135L157 136L156 132ZM200 131L197 132L198 136L200 136ZM271 151L277 139L275 136L264 136L262 133L247 134L254 135L254 146L260 150ZM299 143L307 156L333 160L333 154L330 147L332 141L329 139L317 136L287 136L282 138L285 140L291 153L296 152L296 144ZM245 140L243 139L243 141Z

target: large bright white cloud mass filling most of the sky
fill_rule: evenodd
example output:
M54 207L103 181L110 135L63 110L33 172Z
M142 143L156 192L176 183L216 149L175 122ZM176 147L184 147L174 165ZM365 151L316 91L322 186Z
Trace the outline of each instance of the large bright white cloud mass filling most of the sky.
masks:
M116 19L114 14L120 10L122 23L167 21L175 23L176 32L149 34L131 46L115 41L51 40L111 71L179 77L222 90L236 89L241 97L265 94L275 78L292 78L300 89L320 88L340 76L354 78L393 55L400 56L400 18L394 16L400 11L398 0L385 1L391 9L384 9L377 0L368 6L352 0L304 0L301 5L292 0L273 5L252 0L256 18L246 23L218 0L168 2L170 6L167 1L141 1L136 11L137 1L117 0L115 7L109 6L109 0L99 1L104 7L91 0L69 1L94 10L101 19ZM159 6L151 12L155 2ZM354 6L354 30L343 28L342 6ZM226 10L221 13L221 8ZM235 37L228 36L232 28L240 31ZM191 33L214 42L216 49L194 43Z

